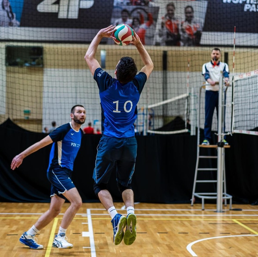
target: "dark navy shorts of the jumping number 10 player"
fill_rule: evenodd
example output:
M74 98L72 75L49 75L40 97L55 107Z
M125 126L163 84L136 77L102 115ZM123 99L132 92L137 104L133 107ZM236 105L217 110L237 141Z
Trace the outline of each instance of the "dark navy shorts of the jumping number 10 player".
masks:
M112 171L117 182L127 186L132 181L137 141L135 137L116 138L103 135L98 144L93 179L97 184L107 184Z

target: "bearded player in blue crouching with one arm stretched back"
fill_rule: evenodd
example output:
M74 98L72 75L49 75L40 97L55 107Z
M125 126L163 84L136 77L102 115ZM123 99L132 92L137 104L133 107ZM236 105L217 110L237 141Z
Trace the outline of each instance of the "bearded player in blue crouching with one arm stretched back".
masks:
M74 159L81 146L83 131L81 125L86 119L86 111L82 105L75 105L71 109L71 122L56 128L48 136L28 147L16 155L11 163L11 169L18 168L23 159L51 143L52 148L49 157L47 177L51 183L51 202L49 209L41 215L38 221L20 237L20 242L31 249L43 249L44 246L37 243L35 235L39 230L47 226L61 211L65 199L71 203L65 211L58 234L55 236L53 247L72 248L67 242L66 230L74 218L74 215L82 205L81 196L71 180Z

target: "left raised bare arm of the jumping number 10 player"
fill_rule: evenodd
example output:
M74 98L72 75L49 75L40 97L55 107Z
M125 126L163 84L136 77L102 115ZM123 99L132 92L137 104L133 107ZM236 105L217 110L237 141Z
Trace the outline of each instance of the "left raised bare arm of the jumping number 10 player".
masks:
M94 75L94 72L97 68L100 68L100 64L98 63L96 56L96 51L98 48L98 45L102 38L112 38L115 39L113 36L113 32L115 31L116 26L110 25L107 28L102 28L97 35L93 38L91 41L91 44L89 45L89 48L84 56L84 60L87 62L91 74Z

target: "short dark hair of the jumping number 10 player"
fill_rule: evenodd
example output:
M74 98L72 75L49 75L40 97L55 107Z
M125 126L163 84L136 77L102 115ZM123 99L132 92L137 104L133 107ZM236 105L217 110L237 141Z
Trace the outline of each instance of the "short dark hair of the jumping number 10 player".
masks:
M137 74L134 59L128 56L122 57L117 64L117 79L122 83L128 83Z

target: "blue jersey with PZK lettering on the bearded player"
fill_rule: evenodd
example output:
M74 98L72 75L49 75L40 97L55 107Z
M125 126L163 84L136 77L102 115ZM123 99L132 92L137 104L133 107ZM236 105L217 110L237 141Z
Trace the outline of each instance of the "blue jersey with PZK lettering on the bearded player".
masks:
M82 135L81 128L79 131L74 130L71 122L61 125L49 134L54 143L50 151L48 171L60 167L73 170Z

